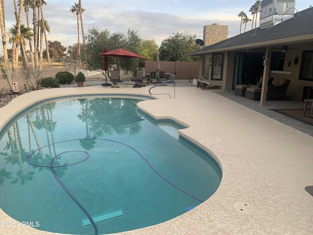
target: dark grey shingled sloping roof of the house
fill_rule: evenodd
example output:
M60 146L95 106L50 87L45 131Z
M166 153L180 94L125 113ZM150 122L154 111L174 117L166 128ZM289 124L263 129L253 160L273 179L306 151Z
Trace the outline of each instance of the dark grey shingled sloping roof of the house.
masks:
M294 14L294 17L272 27L252 29L219 43L203 47L188 55L201 55L234 49L274 46L313 40L313 7Z

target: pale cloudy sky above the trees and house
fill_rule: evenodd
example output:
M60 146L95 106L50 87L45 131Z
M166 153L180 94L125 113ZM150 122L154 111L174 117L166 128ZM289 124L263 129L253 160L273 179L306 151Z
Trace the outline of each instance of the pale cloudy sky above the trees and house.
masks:
M50 26L49 41L59 41L64 47L77 43L77 19L70 12L71 6L78 0L45 0L44 18ZM309 8L313 0L295 0L298 11ZM203 26L208 24L228 25L228 38L239 34L240 18L244 11L250 19L250 7L255 0L81 0L85 34L88 28L109 29L111 33L127 33L128 29L139 32L143 39L153 39L160 45L162 40L177 32L196 34L203 39ZM6 31L15 22L12 0L5 0ZM29 12L32 17L32 10ZM258 15L259 16L259 15ZM30 22L32 20L30 19ZM23 24L26 24L23 11ZM257 24L258 26L258 24ZM244 25L242 26L244 30ZM251 23L247 24L247 30ZM81 35L81 31L80 31ZM80 39L82 43L82 37ZM7 44L7 48L11 48ZM45 48L45 46L44 46ZM0 54L3 55L2 47Z

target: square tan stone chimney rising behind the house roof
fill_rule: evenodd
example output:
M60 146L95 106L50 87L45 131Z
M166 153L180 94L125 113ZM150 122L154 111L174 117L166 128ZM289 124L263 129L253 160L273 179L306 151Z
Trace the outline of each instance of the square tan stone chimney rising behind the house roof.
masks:
M228 25L212 24L203 27L204 47L227 39Z

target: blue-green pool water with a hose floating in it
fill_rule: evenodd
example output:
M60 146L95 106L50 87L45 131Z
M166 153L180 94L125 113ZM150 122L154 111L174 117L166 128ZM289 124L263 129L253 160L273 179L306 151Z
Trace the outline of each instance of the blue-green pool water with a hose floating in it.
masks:
M0 208L39 230L108 234L209 198L222 177L216 162L179 137L179 125L137 110L139 101L54 100L10 121L0 132ZM83 226L88 214L107 219Z

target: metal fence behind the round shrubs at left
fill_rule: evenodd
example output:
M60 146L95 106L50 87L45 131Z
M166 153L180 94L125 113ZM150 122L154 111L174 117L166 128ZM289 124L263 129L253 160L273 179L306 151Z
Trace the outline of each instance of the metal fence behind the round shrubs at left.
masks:
M18 92L21 89L32 89L36 86L37 81L45 77L53 77L57 72L68 71L74 76L79 72L83 72L87 81L98 81L105 78L101 71L88 71L84 69L59 69L59 70L42 70L42 71L16 71L10 73L0 73L0 94L9 93L10 90Z

